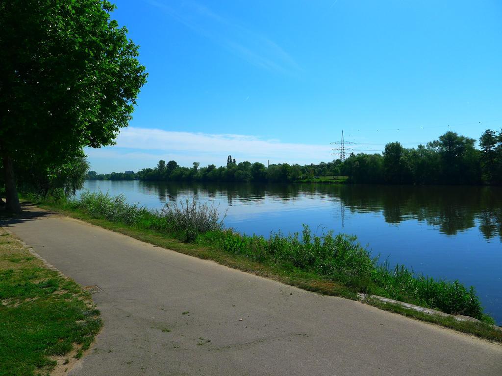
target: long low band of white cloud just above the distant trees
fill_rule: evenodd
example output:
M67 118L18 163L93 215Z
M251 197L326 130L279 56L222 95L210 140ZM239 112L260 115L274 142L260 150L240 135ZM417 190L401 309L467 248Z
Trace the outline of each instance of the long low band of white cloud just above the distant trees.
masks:
M231 154L237 162L318 163L333 159L329 144L316 145L266 140L254 135L208 134L128 127L117 137L116 145L86 149L93 169L98 172L153 167L159 159L176 160L190 166L223 165ZM112 168L111 170L109 170Z

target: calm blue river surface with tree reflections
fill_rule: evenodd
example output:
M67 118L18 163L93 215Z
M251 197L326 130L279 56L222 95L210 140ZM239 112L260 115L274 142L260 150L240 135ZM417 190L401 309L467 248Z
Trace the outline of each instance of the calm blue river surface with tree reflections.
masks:
M198 184L87 180L85 188L161 208L195 197L228 209L241 233L301 231L357 235L381 259L476 287L502 324L502 188L312 184Z

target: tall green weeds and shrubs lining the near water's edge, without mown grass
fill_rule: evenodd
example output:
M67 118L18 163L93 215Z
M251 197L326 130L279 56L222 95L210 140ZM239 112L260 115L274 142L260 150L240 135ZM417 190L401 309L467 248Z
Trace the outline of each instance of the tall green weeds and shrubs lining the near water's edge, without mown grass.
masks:
M215 208L185 202L163 210L147 210L130 205L123 196L84 193L79 200L53 202L65 210L81 212L91 218L132 226L141 231L169 237L247 260L274 264L333 281L348 290L386 296L446 313L463 314L483 321L475 290L458 281L437 281L410 272L402 265L391 267L361 247L354 236L313 235L305 226L301 234L271 234L270 238L242 235L225 229Z

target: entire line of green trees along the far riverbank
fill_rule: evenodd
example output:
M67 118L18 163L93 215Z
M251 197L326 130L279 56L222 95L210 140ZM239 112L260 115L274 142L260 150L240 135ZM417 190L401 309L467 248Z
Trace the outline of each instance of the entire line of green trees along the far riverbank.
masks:
M486 130L476 140L446 132L438 140L405 148L399 142L385 146L382 154L351 153L345 162L339 159L319 164L271 164L248 161L237 163L228 156L225 166L210 164L191 168L174 160L160 160L154 168L137 173L112 172L97 175L89 171L89 179L154 180L154 181L260 181L294 182L315 180L318 176L348 176L353 183L391 184L502 184L502 131Z

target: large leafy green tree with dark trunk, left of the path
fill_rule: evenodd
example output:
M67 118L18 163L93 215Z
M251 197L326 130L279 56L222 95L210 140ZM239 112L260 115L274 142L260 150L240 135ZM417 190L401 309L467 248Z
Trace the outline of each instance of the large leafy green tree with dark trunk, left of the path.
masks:
M55 170L84 146L113 144L146 82L138 46L106 0L0 2L0 152L7 206L15 168Z

